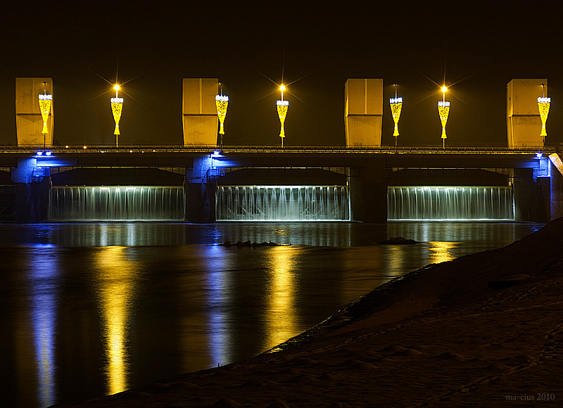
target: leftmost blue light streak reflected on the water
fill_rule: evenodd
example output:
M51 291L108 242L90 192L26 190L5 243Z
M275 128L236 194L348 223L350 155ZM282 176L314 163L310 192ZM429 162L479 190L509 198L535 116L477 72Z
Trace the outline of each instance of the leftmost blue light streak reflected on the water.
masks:
M37 366L37 400L41 407L56 402L56 326L58 262L52 253L39 250L30 257L30 323Z

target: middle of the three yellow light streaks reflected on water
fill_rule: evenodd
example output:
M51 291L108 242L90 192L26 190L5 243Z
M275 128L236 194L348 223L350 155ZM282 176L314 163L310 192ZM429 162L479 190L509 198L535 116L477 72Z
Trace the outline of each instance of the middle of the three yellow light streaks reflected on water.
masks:
M265 305L265 346L272 348L298 334L295 291L295 249L288 246L267 248L270 281Z

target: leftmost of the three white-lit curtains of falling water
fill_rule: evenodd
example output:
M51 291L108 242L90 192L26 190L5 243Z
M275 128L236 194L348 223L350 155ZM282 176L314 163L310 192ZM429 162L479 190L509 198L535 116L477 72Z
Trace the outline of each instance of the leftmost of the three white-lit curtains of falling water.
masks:
M52 221L183 220L182 186L53 186Z

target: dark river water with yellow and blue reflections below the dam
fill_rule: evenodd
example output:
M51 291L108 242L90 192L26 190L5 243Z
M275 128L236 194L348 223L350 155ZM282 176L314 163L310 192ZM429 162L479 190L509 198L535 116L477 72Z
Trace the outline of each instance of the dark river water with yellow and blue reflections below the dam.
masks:
M0 402L43 408L252 357L396 276L540 227L1 224ZM421 243L376 245L392 236Z

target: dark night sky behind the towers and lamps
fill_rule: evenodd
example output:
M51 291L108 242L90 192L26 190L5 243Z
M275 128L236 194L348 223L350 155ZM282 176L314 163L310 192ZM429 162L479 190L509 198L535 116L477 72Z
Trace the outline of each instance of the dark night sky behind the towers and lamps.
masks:
M548 78L548 144L563 141L559 13L459 2L335 7L276 1L14 2L0 16L0 144L15 144L15 77L52 77L54 138L113 143L110 84L125 98L122 144L182 144L182 78L217 77L229 95L225 144L278 145L274 82L293 82L287 146L344 144L344 83L384 79L404 98L400 144L441 144L434 82L450 88L450 145L506 144L506 84ZM270 78L270 79L268 79ZM434 82L432 82L434 81ZM539 130L538 130L539 132Z

